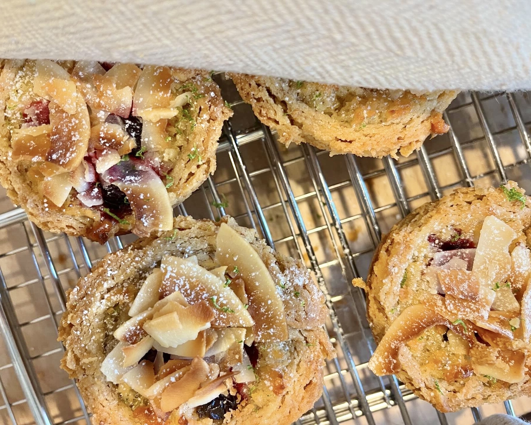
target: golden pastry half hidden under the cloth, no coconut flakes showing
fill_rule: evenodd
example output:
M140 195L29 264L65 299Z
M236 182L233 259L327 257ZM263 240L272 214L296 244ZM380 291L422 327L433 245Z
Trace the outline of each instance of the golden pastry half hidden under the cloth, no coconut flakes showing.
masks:
M259 120L280 142L310 143L330 155L408 156L431 135L446 133L442 112L457 91L414 95L256 75L229 74Z

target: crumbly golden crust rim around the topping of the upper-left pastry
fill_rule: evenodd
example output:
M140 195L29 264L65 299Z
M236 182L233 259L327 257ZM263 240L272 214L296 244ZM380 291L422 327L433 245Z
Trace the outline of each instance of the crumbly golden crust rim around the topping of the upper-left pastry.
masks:
M60 64L72 75L78 63L64 61ZM193 91L191 102L197 112L193 118L186 116L188 121L182 120L190 128L193 126L193 129L178 140L177 135L171 134L176 139L175 142L172 141L176 143L176 149L166 150L164 155L160 152L158 158L161 161L164 159L171 166L166 177L164 171L159 174L168 186L170 204L176 206L215 171L216 149L222 124L232 116L232 111L225 106L219 87L207 72L184 69L169 69L169 72L174 82L186 87L177 90ZM38 190L38 182L28 175L29 169L35 165L34 158L19 159L13 156L13 130L28 125L28 118L24 119L24 116L32 102L44 100L33 92L35 77L36 61L0 60L0 183L6 188L7 195L27 212L32 222L46 231L85 236L100 243L114 235L131 232L135 227L134 214L127 214L125 221L118 222L102 211L105 205L99 208L85 206L76 197L78 192L75 189L72 189L61 207L46 200ZM75 81L78 94L81 93L86 98L79 81ZM108 115L108 111L97 112L90 105L88 109L91 128L100 124ZM177 125L175 129L183 134L182 130L177 129ZM140 159L136 156L138 158L134 159Z

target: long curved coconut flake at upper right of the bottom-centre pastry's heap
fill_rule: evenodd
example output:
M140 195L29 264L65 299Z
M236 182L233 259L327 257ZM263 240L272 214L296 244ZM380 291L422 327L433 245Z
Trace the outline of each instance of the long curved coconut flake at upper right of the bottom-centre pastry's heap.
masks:
M284 304L267 267L251 244L226 223L216 238L216 260L222 266L236 266L245 282L249 312L256 322L256 341L285 341L288 328ZM249 326L249 325L243 325Z

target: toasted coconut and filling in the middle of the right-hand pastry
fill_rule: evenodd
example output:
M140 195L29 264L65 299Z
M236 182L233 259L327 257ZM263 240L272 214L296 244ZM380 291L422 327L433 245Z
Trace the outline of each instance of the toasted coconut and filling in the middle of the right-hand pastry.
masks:
M378 375L397 372L400 349L407 346L442 390L442 381L451 385L473 373L489 385L520 382L526 354L515 341L529 344L522 326L531 320L529 249L520 242L513 246L517 234L494 216L485 218L477 242L459 229L451 233L447 241L427 238L433 257L421 279L429 283L429 294L412 298L413 283L407 275L402 279L401 312L378 345L371 369Z

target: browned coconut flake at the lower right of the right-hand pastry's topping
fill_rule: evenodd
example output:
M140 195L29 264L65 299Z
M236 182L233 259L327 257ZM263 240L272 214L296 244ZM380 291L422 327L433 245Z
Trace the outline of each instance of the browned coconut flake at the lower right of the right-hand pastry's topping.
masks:
M525 378L526 355L521 351L501 351L494 364L472 362L476 375L492 376L509 384L516 384Z

